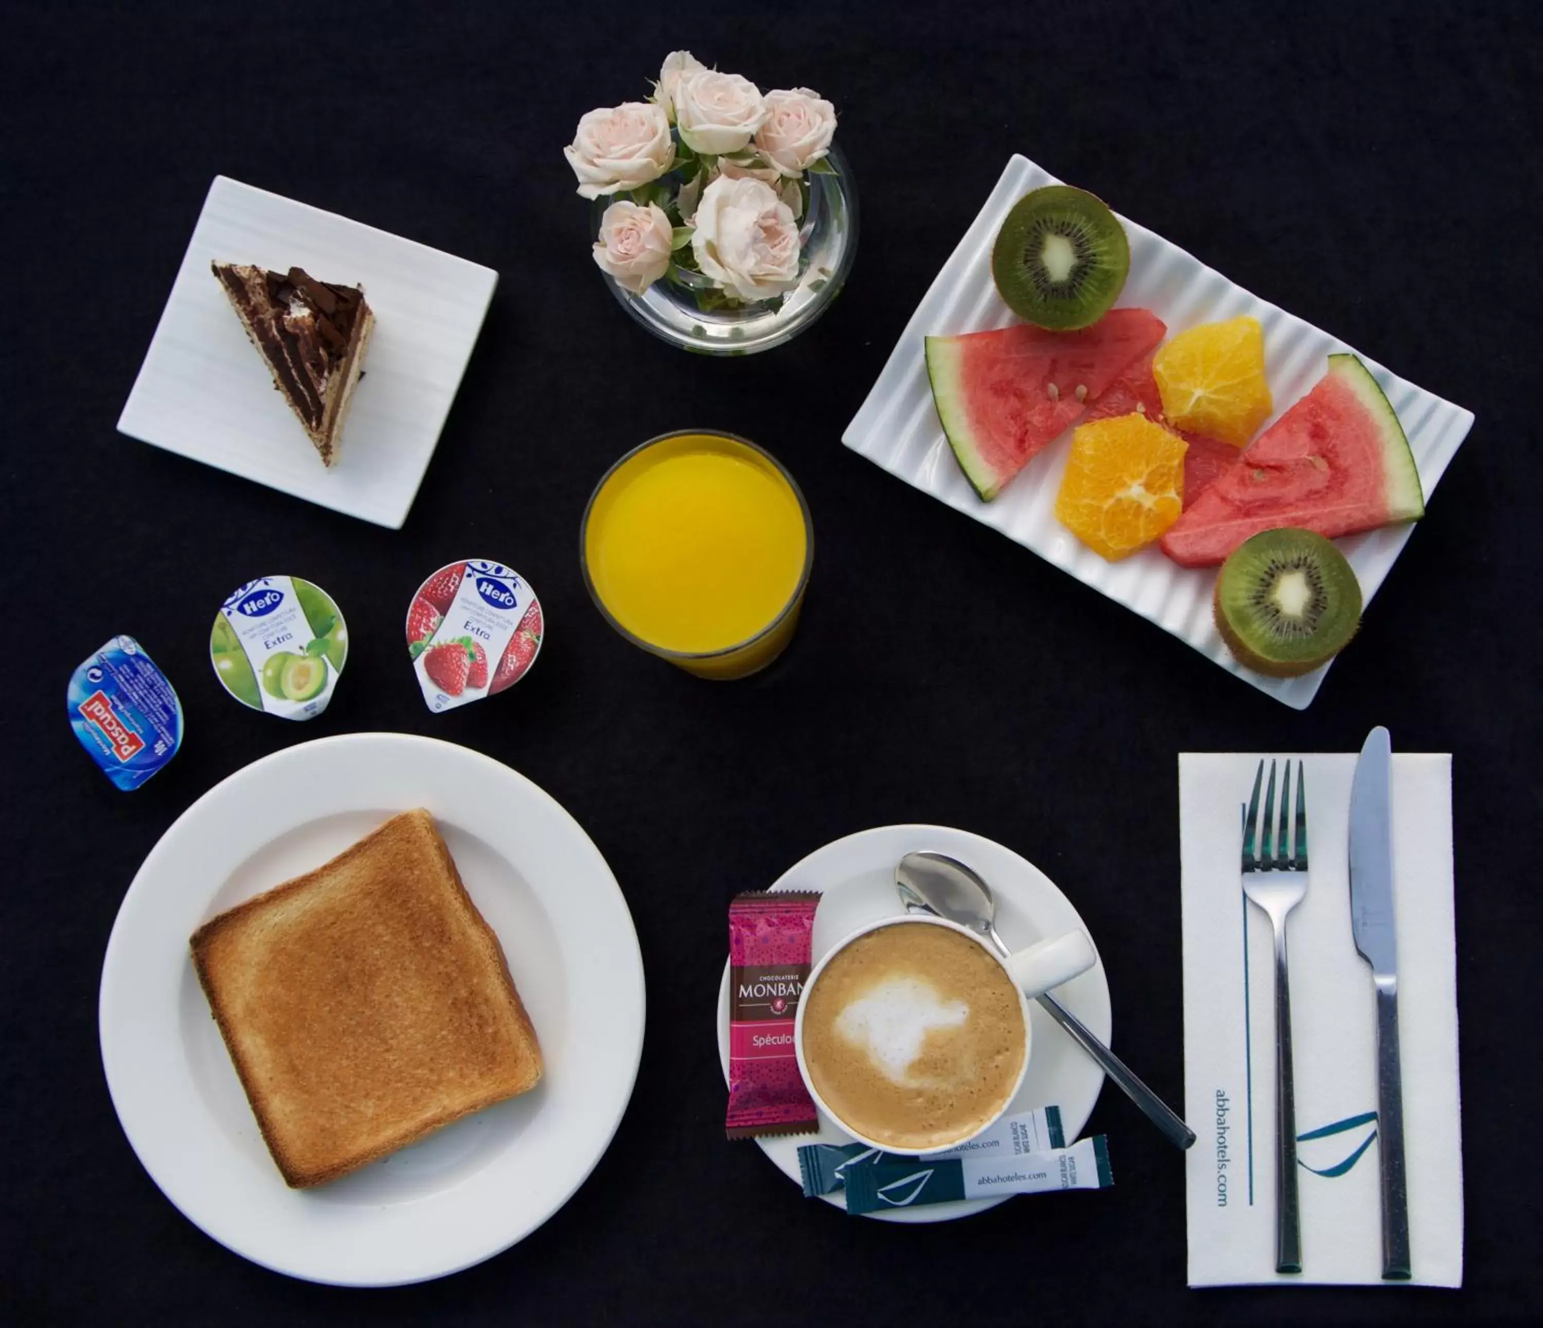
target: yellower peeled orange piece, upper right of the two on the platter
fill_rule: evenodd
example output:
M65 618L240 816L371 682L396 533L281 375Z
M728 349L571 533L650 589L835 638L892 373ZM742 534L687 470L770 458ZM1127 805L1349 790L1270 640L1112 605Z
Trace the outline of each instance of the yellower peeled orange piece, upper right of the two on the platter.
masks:
M1202 322L1180 332L1159 347L1153 376L1171 424L1234 447L1247 447L1275 409L1258 318Z

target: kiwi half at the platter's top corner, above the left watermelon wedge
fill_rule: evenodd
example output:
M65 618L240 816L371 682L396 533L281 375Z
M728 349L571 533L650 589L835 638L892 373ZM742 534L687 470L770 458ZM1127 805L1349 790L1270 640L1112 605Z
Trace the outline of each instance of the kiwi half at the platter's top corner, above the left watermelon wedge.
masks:
M1069 332L1108 313L1125 290L1131 245L1102 199L1071 185L1031 190L991 251L991 278L1025 322Z

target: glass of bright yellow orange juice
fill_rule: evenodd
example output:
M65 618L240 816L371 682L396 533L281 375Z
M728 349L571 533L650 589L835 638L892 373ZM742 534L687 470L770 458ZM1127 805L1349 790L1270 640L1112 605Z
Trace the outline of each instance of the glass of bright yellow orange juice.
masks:
M585 585L623 637L699 677L745 677L798 623L815 561L793 477L744 438L684 429L634 447L596 486Z

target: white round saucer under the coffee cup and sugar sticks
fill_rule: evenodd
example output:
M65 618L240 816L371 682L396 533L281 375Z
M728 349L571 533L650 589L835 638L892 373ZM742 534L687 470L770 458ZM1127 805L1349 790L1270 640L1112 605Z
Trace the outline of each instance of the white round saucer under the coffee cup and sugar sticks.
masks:
M1060 936L1083 925L1071 901L1032 862L1011 848L941 825L884 825L863 830L816 848L802 862L788 867L773 890L818 890L824 898L815 913L812 959L815 962L836 941L881 918L904 916L895 895L895 864L907 853L932 850L947 853L974 867L997 896L997 930L1014 950L1032 945L1046 936ZM1097 945L1094 947L1097 952ZM1086 973L1055 989L1055 996L1105 1043L1109 1041L1109 984L1103 975L1103 959ZM1038 1003L1029 1003L1034 1026L1029 1069L1023 1075L1018 1095L1009 1112L1040 1106L1058 1106L1062 1129L1068 1143L1082 1134L1092 1115L1092 1104L1103 1087L1103 1070L1051 1020ZM728 1081L728 964L717 989L717 1057ZM805 1143L852 1143L852 1135L824 1112L816 1135L773 1135L758 1138L761 1151L772 1158L795 1185L798 1148ZM824 1195L827 1203L844 1208L839 1194ZM1001 1198L969 1198L958 1203L934 1203L892 1212L872 1212L881 1222L947 1222L995 1208Z

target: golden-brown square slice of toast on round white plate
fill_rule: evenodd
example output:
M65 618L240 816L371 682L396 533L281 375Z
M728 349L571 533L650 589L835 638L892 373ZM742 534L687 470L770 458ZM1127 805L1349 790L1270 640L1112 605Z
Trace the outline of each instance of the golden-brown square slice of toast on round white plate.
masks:
M498 938L423 808L205 922L191 949L290 1186L336 1180L542 1078Z

